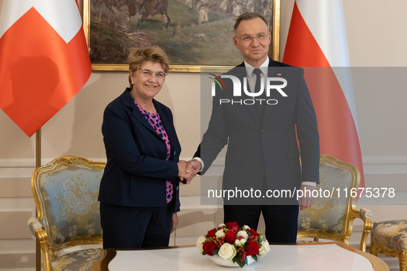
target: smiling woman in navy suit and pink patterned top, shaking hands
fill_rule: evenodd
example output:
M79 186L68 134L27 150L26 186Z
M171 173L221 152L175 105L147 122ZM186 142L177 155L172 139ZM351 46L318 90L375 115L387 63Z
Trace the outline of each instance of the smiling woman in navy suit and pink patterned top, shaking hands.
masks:
M103 114L103 248L168 246L178 224L179 177L190 182L194 173L179 161L171 110L154 100L169 69L167 55L159 47L132 48L128 63L129 87Z

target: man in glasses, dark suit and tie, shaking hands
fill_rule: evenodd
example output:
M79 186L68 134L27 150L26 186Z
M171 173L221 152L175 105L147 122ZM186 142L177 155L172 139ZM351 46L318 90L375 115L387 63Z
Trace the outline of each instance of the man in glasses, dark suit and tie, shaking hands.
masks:
M311 206L315 200L312 191L319 182L319 134L304 70L271 60L267 56L270 42L271 33L262 16L250 12L238 17L233 43L244 63L220 77L236 76L242 85L246 77L251 94L242 91L242 96L233 96L232 80L223 79L225 89L216 90L209 127L187 172L205 173L228 144L222 188L253 188L262 191L263 197L252 201L224 198L225 223L237 221L257 229L262 213L268 241L295 243L298 202L301 210ZM261 92L261 80L271 77L284 78L286 87L271 89L268 97L253 96ZM297 201L296 193L294 197L278 197L277 193L264 197L267 190L308 193Z

